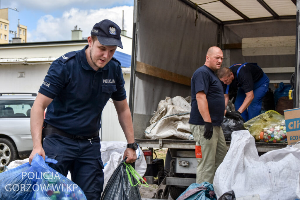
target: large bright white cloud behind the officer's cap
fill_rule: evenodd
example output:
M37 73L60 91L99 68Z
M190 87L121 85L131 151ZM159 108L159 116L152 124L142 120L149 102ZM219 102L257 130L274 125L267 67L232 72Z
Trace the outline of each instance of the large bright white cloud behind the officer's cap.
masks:
M133 6L120 6L98 10L79 10L71 8L62 16L45 15L38 19L37 28L29 31L27 42L71 40L74 26L82 30L82 37L88 37L95 23L110 19L122 29L122 10L124 10L124 29L132 37Z

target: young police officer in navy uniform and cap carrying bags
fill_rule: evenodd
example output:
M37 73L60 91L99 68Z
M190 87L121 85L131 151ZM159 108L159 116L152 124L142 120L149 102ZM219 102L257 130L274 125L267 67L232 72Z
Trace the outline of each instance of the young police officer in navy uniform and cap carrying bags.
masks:
M122 69L113 58L117 46L123 48L120 33L119 26L108 19L96 23L88 45L53 61L31 109L29 163L36 153L57 160L49 166L64 176L70 171L87 199L100 199L103 190L99 129L101 112L110 98L129 143L123 159L127 157L126 163L137 159Z

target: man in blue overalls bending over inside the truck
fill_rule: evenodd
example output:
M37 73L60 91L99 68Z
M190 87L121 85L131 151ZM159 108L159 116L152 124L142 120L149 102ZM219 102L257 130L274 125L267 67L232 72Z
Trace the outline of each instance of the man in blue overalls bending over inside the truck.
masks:
M269 90L269 78L262 69L251 63L234 64L221 67L216 75L221 80L224 90L225 106L228 104L229 91L237 90L234 112L226 112L225 116L241 114L248 121L260 114L262 99Z

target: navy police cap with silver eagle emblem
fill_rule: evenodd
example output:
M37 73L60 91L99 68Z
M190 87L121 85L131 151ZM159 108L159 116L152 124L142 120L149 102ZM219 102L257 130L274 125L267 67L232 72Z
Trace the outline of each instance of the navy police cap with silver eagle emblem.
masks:
M123 49L120 34L121 28L109 19L96 23L91 30L91 35L96 35L102 45L119 46Z

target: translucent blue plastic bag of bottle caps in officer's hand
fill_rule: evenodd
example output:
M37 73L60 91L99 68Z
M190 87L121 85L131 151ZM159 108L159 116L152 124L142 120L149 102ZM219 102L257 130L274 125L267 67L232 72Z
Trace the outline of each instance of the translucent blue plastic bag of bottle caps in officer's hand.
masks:
M57 163L47 158L48 163ZM56 172L36 154L31 165L25 163L0 173L0 200L78 199L86 200L81 188Z

